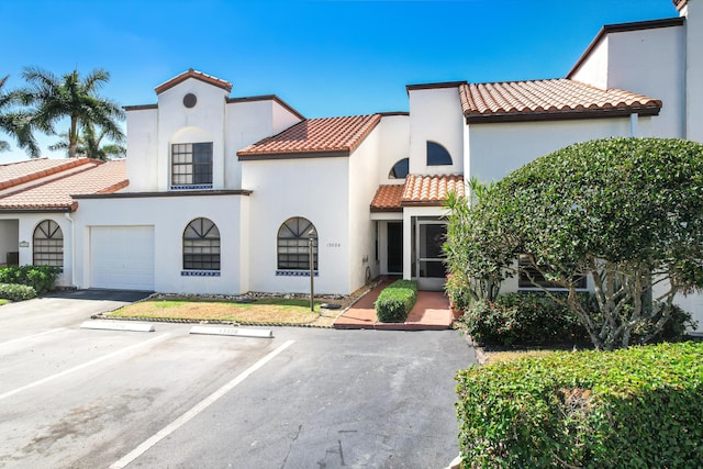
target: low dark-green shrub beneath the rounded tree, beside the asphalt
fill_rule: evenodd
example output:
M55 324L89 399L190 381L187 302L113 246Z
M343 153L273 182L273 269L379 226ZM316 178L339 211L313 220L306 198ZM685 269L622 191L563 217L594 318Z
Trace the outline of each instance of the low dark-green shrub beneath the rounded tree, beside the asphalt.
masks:
M583 302L594 303L592 295L581 294ZM477 301L460 321L481 345L573 344L589 339L576 314L537 292L509 293L495 301Z

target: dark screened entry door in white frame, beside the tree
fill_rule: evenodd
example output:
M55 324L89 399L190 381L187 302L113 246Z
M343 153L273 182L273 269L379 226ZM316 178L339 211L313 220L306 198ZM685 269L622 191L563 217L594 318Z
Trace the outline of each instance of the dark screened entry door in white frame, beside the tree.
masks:
M444 290L447 272L442 245L447 234L446 222L417 220L415 222L415 272L420 290Z

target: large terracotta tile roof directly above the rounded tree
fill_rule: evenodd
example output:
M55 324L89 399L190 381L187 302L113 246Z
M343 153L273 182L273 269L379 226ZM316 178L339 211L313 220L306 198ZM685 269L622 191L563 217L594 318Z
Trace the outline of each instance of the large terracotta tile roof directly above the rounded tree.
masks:
M654 98L567 78L462 85L459 97L468 122L656 115L661 109L661 101Z

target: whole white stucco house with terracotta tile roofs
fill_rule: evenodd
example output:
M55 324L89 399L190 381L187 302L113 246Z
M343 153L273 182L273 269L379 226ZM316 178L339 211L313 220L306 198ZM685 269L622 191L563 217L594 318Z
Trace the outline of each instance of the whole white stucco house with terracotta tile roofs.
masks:
M126 161L0 166L0 263L62 265L78 288L304 292L312 236L319 292L387 273L440 289L442 204L471 177L593 138L703 142L703 0L673 5L604 26L566 77L410 85L409 112L305 119L187 70L125 108ZM703 330L703 298L680 303Z

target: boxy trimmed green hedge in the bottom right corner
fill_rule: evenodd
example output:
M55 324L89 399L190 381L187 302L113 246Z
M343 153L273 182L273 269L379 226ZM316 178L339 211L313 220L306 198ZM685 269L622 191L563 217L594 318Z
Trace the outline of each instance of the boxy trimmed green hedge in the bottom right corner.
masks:
M457 381L465 468L703 467L703 343L554 353Z

